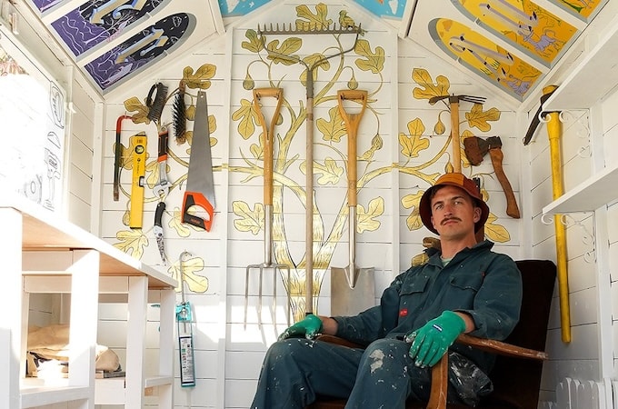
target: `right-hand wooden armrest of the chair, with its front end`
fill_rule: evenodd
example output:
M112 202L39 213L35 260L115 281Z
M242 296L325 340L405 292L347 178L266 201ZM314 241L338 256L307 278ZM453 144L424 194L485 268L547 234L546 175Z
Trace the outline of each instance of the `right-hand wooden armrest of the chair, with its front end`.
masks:
M536 351L521 346L506 344L493 339L478 338L473 335L460 334L456 341L459 344L471 345L483 351L512 356L516 358L547 359L548 356L542 351ZM432 368L432 391L427 403L427 409L446 409L446 392L448 390L448 354Z

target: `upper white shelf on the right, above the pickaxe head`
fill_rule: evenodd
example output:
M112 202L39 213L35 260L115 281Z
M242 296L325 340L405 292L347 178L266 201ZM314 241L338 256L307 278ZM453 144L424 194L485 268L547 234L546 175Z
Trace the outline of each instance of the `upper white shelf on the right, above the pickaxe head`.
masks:
M588 55L575 66L563 84L550 96L543 110L563 111L590 108L618 84L618 17L608 25Z

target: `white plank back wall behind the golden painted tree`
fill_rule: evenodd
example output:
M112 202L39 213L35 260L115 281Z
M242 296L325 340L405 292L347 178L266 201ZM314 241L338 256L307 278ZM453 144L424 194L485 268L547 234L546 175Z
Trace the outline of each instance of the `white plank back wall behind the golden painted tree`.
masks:
M300 4L300 3L299 3ZM297 4L277 5L276 15L281 15L281 22L289 23L294 21L295 10ZM311 7L312 5L310 5ZM329 9L339 10L342 7L340 3L329 2ZM483 86L478 85L478 81L472 80L464 75L455 72L452 65L444 63L434 55L429 55L424 49L415 46L408 41L399 40L396 33L390 28L385 28L376 25L372 18L364 15L360 9L357 11L351 10L351 5L345 5L348 9L348 15L354 15L357 21L363 22L363 28L368 30L364 38L371 41L372 46L381 46L385 50L385 68L383 75L379 81L382 82L379 92L375 95L376 102L372 106L378 111L380 128L379 132L384 141L384 148L378 151L374 157L377 165L386 166L391 164L404 164L405 158L401 156L398 145L399 133L407 134L408 122L419 117L424 121L425 133L424 137L431 138L432 146L422 155L415 159L414 164L422 164L429 161L443 146L446 141L446 135L433 135L432 129L434 122L440 109L436 106L430 106L426 100L415 100L412 96L414 87L418 85L412 80L412 71L415 67L422 67L434 76L445 75L451 80L450 92L460 95L479 95L486 96L488 101L487 107L495 106L500 109L501 104L494 99L492 93L488 92ZM285 10L284 10L285 9ZM250 55L241 47L241 43L246 41L244 32L247 29L255 29L258 24L276 23L275 15L268 14L268 21L263 20L247 20L236 25L232 30L231 35L227 39L228 43L224 42L203 44L195 46L193 54L185 55L184 58L176 63L165 66L164 70L157 73L153 78L152 83L161 81L170 86L172 91L180 80L183 68L191 66L194 69L204 64L216 65L217 72L212 79L213 85L206 90L208 95L209 114L214 115L217 120L217 130L212 135L217 139L217 145L213 147L214 165L219 163L229 164L229 167L237 165L245 165L240 150L246 151L247 146L254 143L254 140L245 141L238 135L237 123L230 120L230 116L240 107L242 99L249 100L253 98L250 91L243 87L243 81L246 76L246 66L250 61L255 59L255 55ZM260 17L262 18L262 17ZM335 17L336 18L336 17ZM314 37L308 37L309 40ZM307 41L309 41L307 40ZM226 54L228 56L226 56ZM306 90L304 85L299 84L298 76L303 71L301 66L280 67L284 69L285 75L283 82L280 84L284 88L284 94L287 101L292 105L294 111L298 111L299 104L305 104ZM269 86L266 77L256 75L252 71L252 76L256 87ZM367 73L355 72L356 80L359 82L359 89L375 89L377 86L376 79ZM277 75L274 77L278 78ZM316 89L324 86L328 75L320 70L315 84ZM347 81L347 77L344 81ZM345 88L345 82L334 86L334 90ZM105 141L104 141L104 164L103 164L103 180L104 187L102 193L102 230L101 235L112 243L116 243L115 234L118 231L126 230L123 225L122 217L126 210L126 201L112 201L112 180L114 156L109 147L113 145L115 138L115 121L118 115L125 114L123 102L125 99L138 96L140 99L145 98L150 84L138 84L126 86L125 89L117 96L115 100L107 101L105 117ZM320 106L314 111L315 118L327 117L327 109L336 106L333 100L332 105L328 107ZM399 109L392 109L393 106L398 106ZM470 107L466 107L469 109ZM463 108L462 108L463 109ZM164 115L167 115L169 110L164 110ZM479 134L479 136L487 137L491 135L500 135L503 141L504 152L504 170L509 176L515 195L518 200L520 195L520 141L521 135L513 133L513 124L515 115L512 112L501 112L501 120L492 124L491 133L487 135ZM169 116L169 115L168 115ZM450 129L448 113L442 116L447 129ZM277 125L276 132L282 132L282 129L287 129L285 121L289 119L284 116L284 124ZM164 122L168 121L168 117L164 117ZM359 129L359 145L366 146L368 141L374 136L374 118L372 115L364 116L363 123ZM366 121L366 122L365 122ZM128 144L128 135L133 135L139 131L145 131L148 135L147 151L152 158L156 155L156 134L154 125L133 125L130 121L125 121L126 129L123 131L123 144ZM304 126L304 125L303 125ZM299 135L304 135L304 127L298 130ZM367 131L369 129L369 131ZM260 132L256 130L255 132ZM324 161L325 155L328 155L324 148L318 145L320 142L320 134L314 130L315 150L314 160ZM170 140L170 145L174 145ZM291 177L303 181L304 175L300 174L299 164L304 160L304 137L297 137L291 148L294 154L298 157L294 158L296 163L290 166L290 169L295 169L296 174L291 174ZM361 149L359 148L359 153ZM428 175L435 173L443 173L446 165L446 155L438 159L425 172ZM184 153L182 159L188 160L188 155ZM341 162L341 160L339 160ZM344 165L343 162L338 165ZM359 169L363 165L359 164ZM178 172L186 172L185 168L175 168L172 165L169 175L174 175ZM470 169L465 169L466 173L470 173ZM487 158L483 165L473 169L473 173L493 172L491 161ZM177 176L177 175L176 175ZM227 184L225 184L227 178ZM177 256L182 251L187 250L193 254L204 258L206 263L203 274L209 280L208 289L204 294L190 294L189 299L194 303L196 309L196 327L197 331L194 334L195 354L196 354L196 373L197 386L195 388L181 389L176 388L174 394L174 402L176 407L194 407L194 408L245 408L247 407L254 394L257 376L262 364L264 353L267 347L274 342L277 334L281 333L286 326L284 315L284 304L286 302L284 296L284 287L281 281L278 283L277 294L277 315L276 324L272 322L271 312L268 305L272 301L273 287L272 280L264 279L264 308L262 319L264 324L260 328L257 325L256 307L257 299L257 280L252 278L250 281L250 297L249 297L249 315L248 324L244 329L244 274L247 264L261 263L264 258L264 239L263 233L253 235L239 232L234 228L234 218L231 204L234 200L244 200L248 204L254 202L262 203L262 179L254 178L248 182L244 181L245 175L226 172L214 174L215 195L217 199L217 209L215 214L214 229L210 233L192 231L190 238L178 238L172 235L166 238L165 246L168 249L170 257ZM130 191L131 175L130 172L123 172L121 175L122 184L125 190ZM344 189L344 181L341 182L339 189ZM421 242L423 237L430 235L424 228L410 232L405 225L405 219L411 212L411 209L404 209L401 205L403 195L424 190L428 187L421 179L410 176L400 175L396 171L392 171L390 175L385 175L383 178L375 179L374 182L367 185L366 189L361 190L359 194L359 204L366 202L369 197L380 195L384 198L384 215L380 218L383 227L376 232L365 232L359 234L357 244L357 263L361 266L375 267L375 297L382 294L382 290L386 287L395 274L400 273L410 265L410 261L415 254L422 252ZM490 205L492 206L493 214L498 218L497 224L502 224L508 229L511 234L511 239L503 244L497 244L494 248L497 251L510 254L513 258L521 258L522 251L520 244L519 222L508 217L505 214L505 200L503 197L502 188L498 181L493 177L486 177L483 186L490 195ZM324 223L332 223L334 211L330 209L338 209L341 202L338 198L332 195L335 192L329 186L318 186L316 188L316 201L320 205ZM341 192L341 190L339 191ZM182 189L174 189L168 196L166 203L168 210L178 209L182 203ZM221 199L220 199L221 198ZM296 219L296 228L286 231L289 234L290 250L294 254L304 253L304 208L302 205L294 203L294 198L285 198L286 218ZM161 268L167 271L159 262L157 250L154 245L154 238L151 233L147 232L150 228L154 217L155 203L145 204L145 232L150 241L150 244L145 247L145 254L142 260L146 264L154 264L156 268ZM394 216L396 214L396 218ZM398 223L395 222L398 220ZM225 242L225 244L224 244ZM399 245L397 246L397 243ZM395 248L396 246L396 248ZM224 251L224 249L227 249ZM175 260L172 260L174 262ZM332 265L346 265L347 260L347 240L342 241L337 245ZM319 298L318 313L329 314L330 312L330 279L329 270L324 273L324 281L322 292ZM268 274L266 274L268 275ZM222 305L224 308L222 309ZM106 307L104 307L106 308ZM102 336L101 342L107 341L105 338L110 334L123 334L118 325L122 325L121 321L104 320L100 324L99 334ZM122 336L120 337L122 338ZM109 342L122 350L122 345L115 342L115 337L110 338ZM106 408L105 408L106 409Z

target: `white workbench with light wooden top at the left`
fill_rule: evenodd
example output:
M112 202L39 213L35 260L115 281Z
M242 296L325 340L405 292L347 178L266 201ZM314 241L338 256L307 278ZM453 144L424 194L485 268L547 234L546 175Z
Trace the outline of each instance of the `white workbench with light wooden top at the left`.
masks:
M177 282L16 195L0 198L0 224L5 228L0 248L6 294L0 297L0 310L12 312L0 317L0 328L7 330L0 333L0 346L5 350L0 354L0 407L23 409L79 401L71 407L88 409L98 404L97 397L103 397L132 409L144 406L148 385L162 392L160 408L172 407ZM76 353L69 361L69 377L53 382L25 378L25 362L18 358L25 356L29 294L47 292L70 293L70 322L82 323L78 330L71 327L70 343ZM95 382L98 295L105 293L126 294L127 377ZM145 323L150 294L161 304L159 373L164 375L147 377Z

